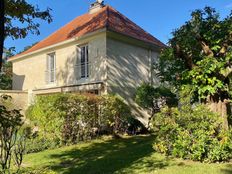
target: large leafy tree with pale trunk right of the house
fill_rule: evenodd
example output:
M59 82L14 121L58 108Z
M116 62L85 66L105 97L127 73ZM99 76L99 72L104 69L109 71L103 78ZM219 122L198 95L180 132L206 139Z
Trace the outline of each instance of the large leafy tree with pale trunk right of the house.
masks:
M231 100L232 13L221 19L211 7L195 10L192 18L175 30L170 47L159 63L162 81L180 87L191 85L195 97L219 113L228 129Z

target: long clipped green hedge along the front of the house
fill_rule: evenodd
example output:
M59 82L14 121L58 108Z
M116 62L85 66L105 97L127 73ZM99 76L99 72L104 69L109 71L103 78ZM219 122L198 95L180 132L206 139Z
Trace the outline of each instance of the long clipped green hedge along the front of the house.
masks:
M89 94L38 96L26 115L38 128L38 135L30 141L30 151L124 133L131 120L130 109L121 98Z

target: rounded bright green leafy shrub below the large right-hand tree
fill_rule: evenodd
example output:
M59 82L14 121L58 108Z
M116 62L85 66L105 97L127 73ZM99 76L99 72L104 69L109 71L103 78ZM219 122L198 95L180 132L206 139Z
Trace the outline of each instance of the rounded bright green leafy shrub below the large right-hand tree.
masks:
M194 108L163 108L153 119L157 133L154 148L166 155L204 162L232 158L231 132L221 129L222 120L205 105Z

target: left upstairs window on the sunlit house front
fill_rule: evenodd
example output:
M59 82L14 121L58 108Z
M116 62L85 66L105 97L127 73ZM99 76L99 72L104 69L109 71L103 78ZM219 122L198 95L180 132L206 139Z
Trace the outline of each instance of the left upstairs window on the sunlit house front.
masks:
M47 71L46 71L46 79L47 83L55 83L56 80L56 62L55 62L55 53L51 53L47 55Z

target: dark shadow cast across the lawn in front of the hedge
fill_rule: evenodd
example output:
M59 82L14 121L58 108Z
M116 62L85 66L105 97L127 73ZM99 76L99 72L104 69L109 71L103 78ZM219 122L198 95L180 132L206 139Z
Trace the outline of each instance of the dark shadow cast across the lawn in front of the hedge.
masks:
M126 139L108 140L101 143L92 143L80 149L73 149L59 155L51 155L62 161L49 168L58 173L114 173L125 169L143 157L154 152L152 149L154 137L138 136ZM168 166L162 160L144 161L143 166L149 169L161 169Z

